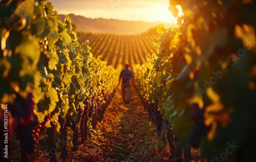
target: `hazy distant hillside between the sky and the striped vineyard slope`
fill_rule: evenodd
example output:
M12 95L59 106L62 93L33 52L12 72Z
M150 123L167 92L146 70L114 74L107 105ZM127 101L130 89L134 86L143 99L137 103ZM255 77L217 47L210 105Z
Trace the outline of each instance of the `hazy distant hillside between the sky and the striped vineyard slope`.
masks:
M59 15L61 20L65 15ZM76 31L92 32L92 33L116 33L116 34L141 34L147 32L148 29L155 27L163 22L142 22L142 21L123 21L116 19L103 18L86 18L79 15L69 14L73 23L76 25ZM164 26L171 26L163 23Z

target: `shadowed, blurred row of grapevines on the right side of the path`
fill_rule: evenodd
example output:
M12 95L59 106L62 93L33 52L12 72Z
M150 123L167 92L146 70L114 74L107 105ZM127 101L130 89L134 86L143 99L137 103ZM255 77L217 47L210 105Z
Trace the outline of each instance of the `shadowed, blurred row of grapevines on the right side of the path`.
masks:
M169 125L178 148L200 147L209 161L254 159L255 9L256 1L170 0L180 28L160 24L157 52L134 73L157 130Z

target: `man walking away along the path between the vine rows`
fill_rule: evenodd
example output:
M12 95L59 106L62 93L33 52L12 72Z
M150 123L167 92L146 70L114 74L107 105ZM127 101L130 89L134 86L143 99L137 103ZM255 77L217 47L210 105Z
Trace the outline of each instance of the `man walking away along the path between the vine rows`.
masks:
M134 77L133 72L128 69L129 64L124 64L124 69L121 71L120 76L119 76L119 84L121 82L122 78L122 97L123 97L123 102L125 104L129 104L130 102L130 91L131 91L131 84L130 80L132 77ZM125 91L126 91L126 100L125 100Z

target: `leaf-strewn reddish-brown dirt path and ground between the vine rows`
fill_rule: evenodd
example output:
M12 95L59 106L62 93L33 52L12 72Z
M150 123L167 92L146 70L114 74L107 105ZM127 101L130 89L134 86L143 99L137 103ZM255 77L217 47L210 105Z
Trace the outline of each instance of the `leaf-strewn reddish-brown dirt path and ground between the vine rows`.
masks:
M118 89L110 106L106 109L104 119L89 132L89 140L79 145L78 151L72 152L72 131L68 133L67 161L175 161L169 160L167 141L157 137L155 125L148 118L135 89L131 91L130 104L121 103L121 90ZM59 146L59 133L56 133ZM15 148L17 147L17 148ZM18 145L14 146L18 149ZM57 147L57 160L60 151ZM12 153L11 161L19 161L19 151ZM193 161L201 160L200 150L192 149ZM46 132L39 141L38 150L31 156L31 161L49 161Z

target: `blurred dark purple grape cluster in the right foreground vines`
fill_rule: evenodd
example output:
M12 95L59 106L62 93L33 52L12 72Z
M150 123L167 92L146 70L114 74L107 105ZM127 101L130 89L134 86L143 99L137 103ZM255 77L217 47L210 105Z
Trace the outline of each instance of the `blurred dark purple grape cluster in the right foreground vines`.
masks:
M191 119L195 122L192 130L189 133L189 143L192 147L198 147L202 137L206 136L210 126L204 125L204 110L199 109L198 104L193 104Z

